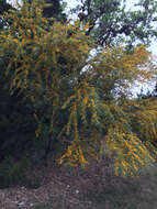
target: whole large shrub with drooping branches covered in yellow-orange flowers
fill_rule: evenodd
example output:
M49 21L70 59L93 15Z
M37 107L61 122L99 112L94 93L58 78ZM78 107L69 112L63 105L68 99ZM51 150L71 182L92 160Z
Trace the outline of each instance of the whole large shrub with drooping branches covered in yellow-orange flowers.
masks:
M59 164L86 166L89 157L99 161L105 146L116 175L135 175L156 157L150 142L157 138L157 106L130 100L125 89L156 78L150 54L144 45L130 54L123 46L93 54L90 25L54 20L49 28L43 6L25 3L5 16L12 25L1 32L0 58L8 64L11 94L32 102L35 133L47 139L47 150L55 143L64 147Z

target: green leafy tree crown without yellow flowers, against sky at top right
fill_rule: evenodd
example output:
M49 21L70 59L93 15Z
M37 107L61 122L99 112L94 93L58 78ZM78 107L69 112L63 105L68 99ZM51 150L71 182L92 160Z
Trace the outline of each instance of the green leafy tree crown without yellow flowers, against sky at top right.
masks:
M135 11L126 11L126 0L81 0L72 12L79 13L85 24L89 22L87 34L99 45L114 45L124 40L131 48L136 43L149 44L157 36L157 1L139 0L135 7Z

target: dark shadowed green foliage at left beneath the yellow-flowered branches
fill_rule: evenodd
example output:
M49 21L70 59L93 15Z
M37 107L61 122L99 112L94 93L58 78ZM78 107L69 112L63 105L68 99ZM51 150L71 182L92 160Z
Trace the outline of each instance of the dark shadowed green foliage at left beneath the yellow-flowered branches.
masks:
M29 154L34 161L43 157L47 148L47 138L36 139L36 120L33 118L34 107L25 98L24 94L10 94L11 74L4 76L4 63L1 62L0 72L0 161L7 156L21 158L23 154ZM38 107L41 108L41 106ZM44 111L41 108L41 116ZM47 121L45 121L46 124ZM37 154L31 154L37 153Z

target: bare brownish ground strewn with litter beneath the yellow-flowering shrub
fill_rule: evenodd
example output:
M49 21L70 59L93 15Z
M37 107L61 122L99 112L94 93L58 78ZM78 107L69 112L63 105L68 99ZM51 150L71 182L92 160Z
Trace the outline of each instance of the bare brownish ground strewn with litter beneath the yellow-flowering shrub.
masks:
M157 165L133 179L114 176L105 162L86 170L49 163L30 172L41 186L0 189L0 209L157 209Z

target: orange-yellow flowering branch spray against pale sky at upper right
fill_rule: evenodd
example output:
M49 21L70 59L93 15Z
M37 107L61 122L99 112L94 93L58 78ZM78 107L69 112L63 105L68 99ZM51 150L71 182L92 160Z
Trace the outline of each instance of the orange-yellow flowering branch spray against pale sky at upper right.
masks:
M93 67L90 74L101 98L126 97L131 84L145 84L146 80L154 79L156 66L149 62L149 55L144 45L137 46L132 54L123 46L100 51L99 62L91 64Z

